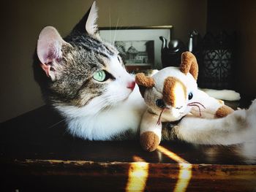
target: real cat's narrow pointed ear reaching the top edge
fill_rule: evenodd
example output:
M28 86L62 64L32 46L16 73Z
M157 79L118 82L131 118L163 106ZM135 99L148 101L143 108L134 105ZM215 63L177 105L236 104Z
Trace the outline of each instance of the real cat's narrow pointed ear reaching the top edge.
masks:
M87 33L91 35L97 34L97 18L98 18L98 9L96 6L96 1L93 2L91 8L86 12L86 15L79 21L79 23L73 28L72 32Z

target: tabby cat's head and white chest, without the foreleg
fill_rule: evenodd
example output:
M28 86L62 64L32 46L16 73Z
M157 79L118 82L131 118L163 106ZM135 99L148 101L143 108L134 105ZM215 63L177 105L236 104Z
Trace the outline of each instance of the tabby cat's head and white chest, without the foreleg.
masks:
M97 35L97 7L64 39L42 29L34 64L46 101L64 116L71 134L89 140L136 135L145 104L116 47ZM86 25L84 24L86 23ZM38 75L40 77L38 77ZM40 80L38 80L40 79Z

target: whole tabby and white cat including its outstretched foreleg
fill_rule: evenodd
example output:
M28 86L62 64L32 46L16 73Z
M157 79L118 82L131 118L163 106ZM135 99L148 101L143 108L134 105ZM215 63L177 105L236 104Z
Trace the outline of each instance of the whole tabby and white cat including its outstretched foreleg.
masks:
M75 137L138 138L146 104L116 47L100 39L96 20L94 1L64 39L56 28L43 28L34 58L34 77L45 101L64 116ZM255 132L255 114L256 101L249 110L237 110L226 118L188 118L181 128L171 131L171 138L202 144L243 142Z

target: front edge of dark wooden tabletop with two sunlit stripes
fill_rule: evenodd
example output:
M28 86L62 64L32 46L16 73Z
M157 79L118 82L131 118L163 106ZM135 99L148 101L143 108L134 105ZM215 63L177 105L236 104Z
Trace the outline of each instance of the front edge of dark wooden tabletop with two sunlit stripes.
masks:
M189 180L181 170L186 165L1 160L0 175L4 178L1 187L8 191L59 191L60 188L63 191L254 191L256 188L255 165L189 164L192 171Z

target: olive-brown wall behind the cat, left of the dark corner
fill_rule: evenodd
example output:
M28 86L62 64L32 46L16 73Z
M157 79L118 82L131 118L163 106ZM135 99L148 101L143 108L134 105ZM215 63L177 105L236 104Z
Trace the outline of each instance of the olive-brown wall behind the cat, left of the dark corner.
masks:
M0 122L44 104L34 82L32 55L40 30L55 26L66 36L93 0L9 0L1 3ZM173 25L174 36L206 31L207 0L97 0L99 26ZM42 117L43 118L43 117Z

